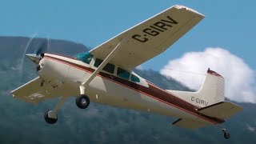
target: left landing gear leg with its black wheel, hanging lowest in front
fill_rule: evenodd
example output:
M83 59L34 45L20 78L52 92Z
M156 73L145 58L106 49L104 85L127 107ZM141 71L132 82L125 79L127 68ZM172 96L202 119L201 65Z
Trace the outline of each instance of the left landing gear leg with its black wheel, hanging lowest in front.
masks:
M54 124L58 121L58 110L62 107L63 103L66 101L66 98L67 97L62 97L58 103L57 103L57 106L55 107L54 110L49 110L49 111L46 111L45 113L45 120L47 123L49 124Z

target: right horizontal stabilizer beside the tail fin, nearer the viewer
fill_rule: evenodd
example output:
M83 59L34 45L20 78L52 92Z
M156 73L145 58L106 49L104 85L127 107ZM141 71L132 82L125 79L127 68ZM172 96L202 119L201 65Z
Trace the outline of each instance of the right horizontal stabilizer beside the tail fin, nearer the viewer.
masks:
M199 109L198 112L213 118L230 118L242 110L242 106L238 106L232 102L218 102L211 106Z

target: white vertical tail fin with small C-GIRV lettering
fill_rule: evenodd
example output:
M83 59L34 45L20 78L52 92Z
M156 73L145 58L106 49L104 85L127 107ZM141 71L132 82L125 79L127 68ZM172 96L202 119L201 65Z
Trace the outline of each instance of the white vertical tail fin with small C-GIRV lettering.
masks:
M208 69L205 81L203 82L200 90L196 92L178 90L167 91L195 106L205 107L225 100L224 87L224 78L213 70Z

